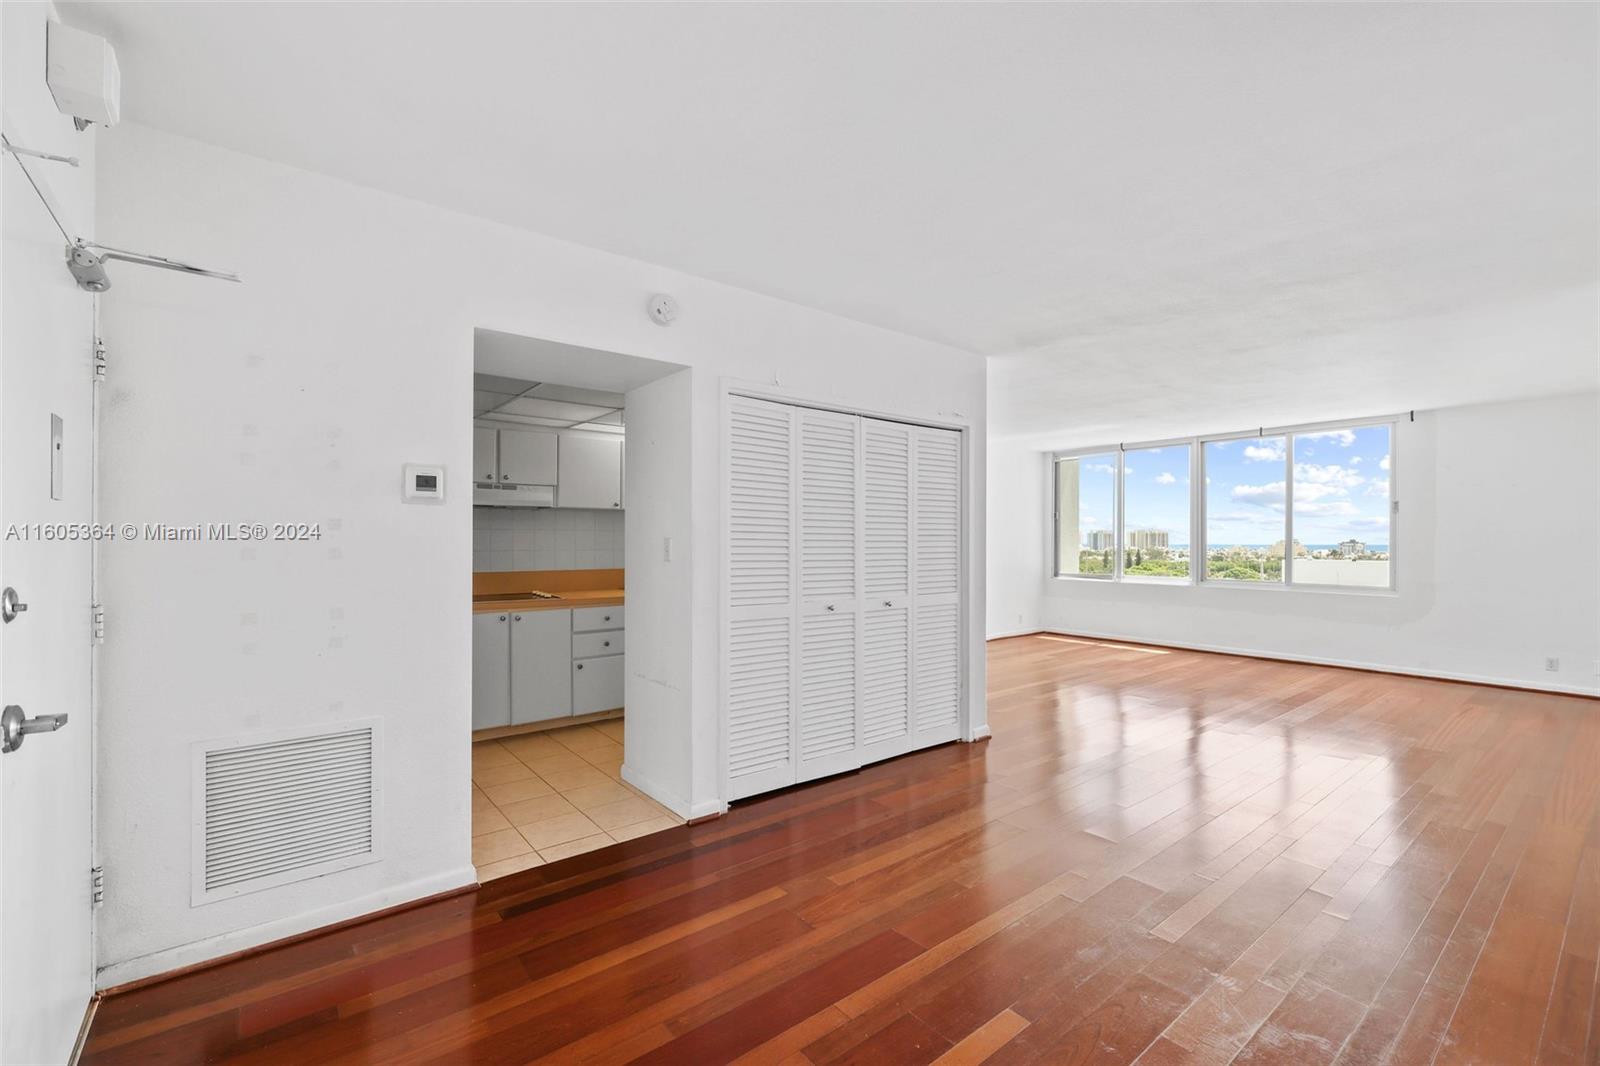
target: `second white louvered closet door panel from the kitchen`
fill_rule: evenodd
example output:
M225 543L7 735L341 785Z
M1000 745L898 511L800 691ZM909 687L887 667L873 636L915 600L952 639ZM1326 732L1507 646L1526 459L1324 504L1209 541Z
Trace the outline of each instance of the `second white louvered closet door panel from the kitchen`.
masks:
M861 419L802 408L797 779L861 765Z

